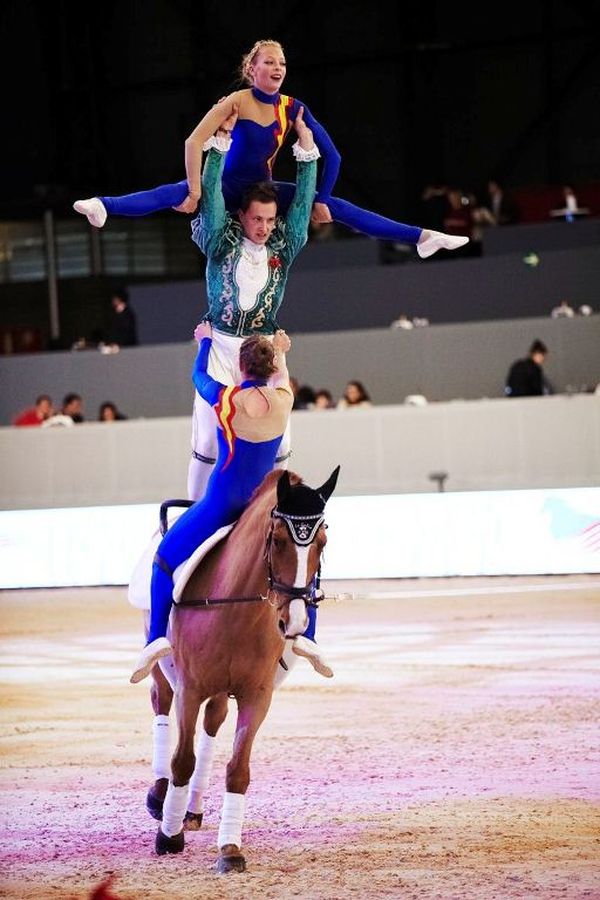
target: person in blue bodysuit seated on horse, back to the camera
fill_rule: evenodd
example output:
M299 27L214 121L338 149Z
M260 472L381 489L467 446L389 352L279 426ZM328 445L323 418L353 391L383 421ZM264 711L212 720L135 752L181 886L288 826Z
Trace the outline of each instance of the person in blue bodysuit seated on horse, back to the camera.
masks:
M193 371L198 393L213 406L218 434L218 457L202 500L194 503L167 531L152 566L150 629L132 683L141 681L158 660L171 653L167 640L173 600L173 572L196 547L223 525L235 522L275 457L294 402L285 364L290 340L284 331L273 341L262 335L247 338L240 348L241 385L226 387L207 372L212 343L211 326L198 325L200 348ZM269 386L267 386L269 379ZM305 656L317 672L333 672L314 643L316 610L308 607L309 625L294 639L293 649Z

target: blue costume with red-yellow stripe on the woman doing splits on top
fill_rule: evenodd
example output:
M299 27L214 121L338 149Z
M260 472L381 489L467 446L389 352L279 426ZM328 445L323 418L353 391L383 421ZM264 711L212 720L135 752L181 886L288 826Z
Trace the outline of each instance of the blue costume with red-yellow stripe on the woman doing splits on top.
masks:
M266 94L256 87L251 90L254 98L260 103L274 107L275 121L270 125L260 125L252 119L238 119L232 131L233 145L223 171L223 195L230 212L237 212L242 194L247 187L258 181L272 180L272 169L277 153L300 107L303 106L304 121L313 132L324 163L315 201L325 203L336 222L347 225L354 231L385 241L417 243L421 236L421 228L394 222L392 219L354 206L346 200L331 196L340 168L340 155L323 126L317 122L301 100L295 100L285 94ZM276 181L275 184L278 188L279 212L285 215L292 202L295 185L282 181ZM187 181L179 181L175 184L161 185L150 191L99 199L110 215L145 216L161 209L179 206L187 195Z

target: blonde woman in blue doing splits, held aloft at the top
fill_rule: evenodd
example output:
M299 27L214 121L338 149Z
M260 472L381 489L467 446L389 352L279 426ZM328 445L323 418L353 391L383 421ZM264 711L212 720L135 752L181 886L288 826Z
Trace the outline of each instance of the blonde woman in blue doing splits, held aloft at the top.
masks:
M233 145L223 172L225 203L229 212L235 213L239 209L241 196L249 185L272 180L277 153L300 107L304 106L304 120L312 130L323 158L323 170L312 215L314 223L335 220L370 237L416 244L417 252L423 258L441 248L454 250L468 242L466 237L394 222L331 196L340 168L340 155L306 104L279 92L286 74L286 63L283 49L277 41L257 41L242 60L241 74L252 87L235 91L223 98L187 139L186 181L123 197L78 200L73 204L74 209L87 216L90 223L98 228L104 225L107 215L145 216L170 207L178 212L195 212L201 191L202 147L237 110L238 120L232 132ZM285 215L292 201L294 185L287 182L275 184L278 188L279 211Z

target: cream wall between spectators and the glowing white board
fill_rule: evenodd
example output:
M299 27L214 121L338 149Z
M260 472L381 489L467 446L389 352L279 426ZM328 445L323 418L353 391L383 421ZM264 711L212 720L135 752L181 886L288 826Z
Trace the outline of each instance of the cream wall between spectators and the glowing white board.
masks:
M190 420L1 428L0 508L185 497ZM600 485L600 396L381 406L292 414L291 468L338 496Z

